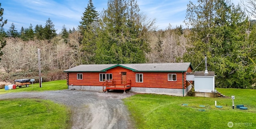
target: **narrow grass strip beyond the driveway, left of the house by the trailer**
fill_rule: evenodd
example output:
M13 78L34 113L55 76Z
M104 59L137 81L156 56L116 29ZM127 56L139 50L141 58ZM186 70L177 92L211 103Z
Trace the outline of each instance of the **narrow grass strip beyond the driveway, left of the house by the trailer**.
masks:
M39 87L39 83L30 84L29 87L19 88L13 90L0 89L0 94L10 93L10 92L28 92L28 91L46 91L46 90L64 90L68 89L67 80L55 80L51 82L42 82L42 88Z

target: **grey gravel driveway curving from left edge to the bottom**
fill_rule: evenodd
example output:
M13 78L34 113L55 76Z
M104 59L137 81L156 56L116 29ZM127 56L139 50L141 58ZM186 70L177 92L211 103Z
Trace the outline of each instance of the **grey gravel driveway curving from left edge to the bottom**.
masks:
M72 129L132 129L129 112L121 99L134 92L96 92L58 90L1 94L1 99L40 98L68 106L72 111Z

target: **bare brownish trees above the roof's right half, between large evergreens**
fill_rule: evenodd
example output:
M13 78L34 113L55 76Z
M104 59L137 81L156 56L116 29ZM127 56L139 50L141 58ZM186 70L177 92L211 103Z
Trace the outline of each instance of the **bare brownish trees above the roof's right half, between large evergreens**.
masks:
M187 39L183 33L189 33L184 30L177 33L177 29L159 30L150 33L150 53L146 54L148 63L175 63L182 62L181 58L186 52ZM180 59L180 60L178 60Z

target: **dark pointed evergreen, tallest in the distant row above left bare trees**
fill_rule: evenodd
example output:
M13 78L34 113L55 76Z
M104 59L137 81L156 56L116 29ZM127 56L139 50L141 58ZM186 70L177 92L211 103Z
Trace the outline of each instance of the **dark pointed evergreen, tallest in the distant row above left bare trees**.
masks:
M43 31L44 39L50 40L57 36L56 30L54 29L54 24L50 18L45 23Z

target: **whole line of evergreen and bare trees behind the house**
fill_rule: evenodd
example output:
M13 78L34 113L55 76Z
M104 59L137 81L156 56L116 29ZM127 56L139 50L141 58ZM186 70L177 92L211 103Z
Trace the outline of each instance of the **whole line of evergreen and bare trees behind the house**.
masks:
M243 3L246 7L255 2ZM6 72L36 71L37 48L42 50L42 70L81 64L176 62L191 62L196 68L206 54L208 70L216 74L216 87L254 88L256 26L250 17L255 12L250 9L255 6L247 8L249 16L242 6L230 0L189 2L186 27L169 25L156 30L155 19L140 12L136 0L108 0L106 10L100 13L89 0L77 29L67 31L63 26L56 34L49 18L44 27L33 29L30 24L18 33L12 25L7 32L0 31L0 65ZM1 17L0 22L2 27L7 20ZM15 61L18 63L11 64ZM204 65L196 69L202 70Z

